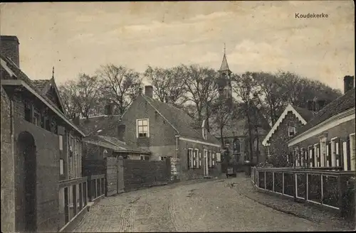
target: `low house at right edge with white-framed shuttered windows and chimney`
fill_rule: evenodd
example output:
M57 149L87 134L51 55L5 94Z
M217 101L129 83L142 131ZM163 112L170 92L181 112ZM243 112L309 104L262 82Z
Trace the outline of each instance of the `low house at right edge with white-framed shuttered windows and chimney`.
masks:
M295 167L355 170L355 78L288 141Z

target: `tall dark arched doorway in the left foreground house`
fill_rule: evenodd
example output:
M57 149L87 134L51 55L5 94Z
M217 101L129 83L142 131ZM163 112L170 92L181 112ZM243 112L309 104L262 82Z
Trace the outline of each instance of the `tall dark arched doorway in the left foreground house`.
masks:
M36 145L33 136L27 131L21 132L17 149L16 228L17 231L36 232Z

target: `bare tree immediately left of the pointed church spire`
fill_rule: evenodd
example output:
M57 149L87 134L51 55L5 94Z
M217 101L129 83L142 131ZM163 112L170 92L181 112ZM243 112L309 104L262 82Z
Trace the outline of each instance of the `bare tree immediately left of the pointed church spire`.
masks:
M187 100L194 103L197 111L197 121L206 119L208 130L210 128L209 116L211 103L218 95L216 88L217 72L198 65L182 66L182 78L187 90Z

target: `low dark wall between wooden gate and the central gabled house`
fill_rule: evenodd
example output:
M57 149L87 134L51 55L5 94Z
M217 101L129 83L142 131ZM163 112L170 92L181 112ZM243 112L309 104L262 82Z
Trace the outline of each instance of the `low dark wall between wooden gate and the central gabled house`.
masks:
M169 165L169 166L168 166ZM124 160L125 191L163 185L169 182L170 163L167 161Z

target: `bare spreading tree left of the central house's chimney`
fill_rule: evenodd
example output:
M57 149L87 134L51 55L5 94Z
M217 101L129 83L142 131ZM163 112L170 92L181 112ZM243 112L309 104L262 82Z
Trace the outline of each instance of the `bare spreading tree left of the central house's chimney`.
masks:
M140 74L123 66L103 65L98 70L98 77L105 99L117 105L117 114L125 112L142 86Z

